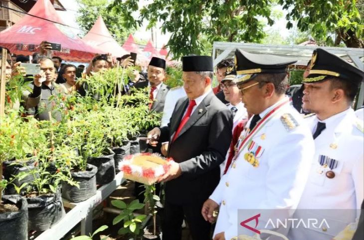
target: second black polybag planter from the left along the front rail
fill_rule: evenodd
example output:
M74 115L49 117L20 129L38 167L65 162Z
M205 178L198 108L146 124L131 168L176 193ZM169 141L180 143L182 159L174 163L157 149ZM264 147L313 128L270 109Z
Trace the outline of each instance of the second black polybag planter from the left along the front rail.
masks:
M26 198L26 201L28 202L29 230L45 231L66 215L60 189L56 193Z

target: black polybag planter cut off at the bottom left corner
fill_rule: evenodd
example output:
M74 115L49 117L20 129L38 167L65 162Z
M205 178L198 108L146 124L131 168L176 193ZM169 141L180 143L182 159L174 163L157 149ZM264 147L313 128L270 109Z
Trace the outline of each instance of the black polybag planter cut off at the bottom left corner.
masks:
M0 214L0 240L28 239L28 203L19 195L2 196L4 204L15 204L18 212Z

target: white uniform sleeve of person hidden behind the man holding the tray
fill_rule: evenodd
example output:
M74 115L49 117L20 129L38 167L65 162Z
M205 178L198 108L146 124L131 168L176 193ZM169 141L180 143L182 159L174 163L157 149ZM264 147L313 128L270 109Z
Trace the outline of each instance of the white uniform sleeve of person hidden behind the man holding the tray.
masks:
M161 120L161 127L167 126L170 122L170 118L172 116L173 110L175 109L176 103L178 99L186 96L186 92L182 86L171 88L165 100L165 106L163 109L163 116Z

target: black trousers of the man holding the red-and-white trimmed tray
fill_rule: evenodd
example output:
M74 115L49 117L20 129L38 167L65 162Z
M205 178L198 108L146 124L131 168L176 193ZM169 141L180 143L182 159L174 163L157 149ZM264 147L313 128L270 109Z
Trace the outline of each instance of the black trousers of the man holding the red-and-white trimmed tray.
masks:
M211 240L211 224L201 215L203 202L176 205L166 201L162 223L163 240L181 240L183 218L193 240Z

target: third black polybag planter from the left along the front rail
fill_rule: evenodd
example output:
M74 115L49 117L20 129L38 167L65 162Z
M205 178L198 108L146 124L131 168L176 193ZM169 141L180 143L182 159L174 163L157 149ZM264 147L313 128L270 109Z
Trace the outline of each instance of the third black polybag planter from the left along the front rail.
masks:
M71 202L82 202L95 195L96 172L97 167L91 164L87 164L86 171L71 171L71 176L78 182L79 188L62 182L62 197Z

